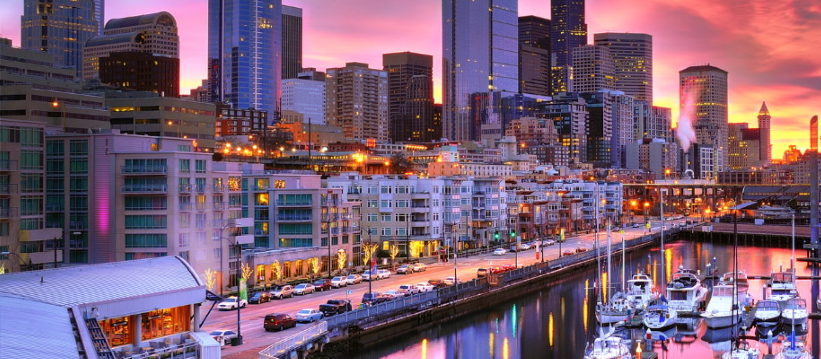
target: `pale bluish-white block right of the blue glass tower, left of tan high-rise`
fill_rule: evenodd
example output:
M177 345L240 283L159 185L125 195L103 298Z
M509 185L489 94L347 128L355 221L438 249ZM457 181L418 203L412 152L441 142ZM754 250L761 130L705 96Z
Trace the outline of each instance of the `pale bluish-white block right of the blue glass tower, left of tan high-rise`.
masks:
M305 70L296 79L282 80L282 111L300 113L305 123L325 125L325 74Z

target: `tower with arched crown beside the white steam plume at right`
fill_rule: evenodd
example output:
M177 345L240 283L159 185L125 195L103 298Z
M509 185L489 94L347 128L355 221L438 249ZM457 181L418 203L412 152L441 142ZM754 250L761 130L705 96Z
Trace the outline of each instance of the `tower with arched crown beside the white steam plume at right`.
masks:
M718 163L727 164L727 71L715 66L690 66L679 71L681 113L691 112L697 143L712 144ZM720 160L720 161L719 161Z

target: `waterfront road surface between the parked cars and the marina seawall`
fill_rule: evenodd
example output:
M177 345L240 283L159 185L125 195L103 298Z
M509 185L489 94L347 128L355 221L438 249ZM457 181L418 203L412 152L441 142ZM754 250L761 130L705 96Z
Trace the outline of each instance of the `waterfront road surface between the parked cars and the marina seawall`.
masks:
M682 219L681 221L683 221ZM678 222L674 220L672 222ZM658 232L660 225L658 222L651 222L651 232ZM634 239L640 237L645 233L645 229L627 228L625 229L625 239ZM599 233L599 240L602 245L605 245L607 235L605 231ZM612 232L612 243L619 243L621 241L621 234ZM565 243L556 243L552 246L542 248L544 250L544 257L546 259L554 259L559 255L559 251L576 251L576 248L594 248L595 234L581 234L566 238ZM427 282L429 279L444 279L453 276L456 270L457 277L462 281L472 280L476 277L476 270L494 264L517 264L518 266L529 266L537 260L535 250L530 249L522 252L507 252L502 256L493 256L492 254L480 254L474 257L459 258L455 263L453 260L447 263L435 263L428 265L428 269L410 275L392 274L388 279L375 280L370 285L373 286L374 292L383 293L391 289L397 289L401 284L417 284L420 282ZM346 294L347 290L351 290L351 294ZM316 309L319 304L327 302L332 298L348 298L351 300L351 305L356 307L362 298L362 295L368 292L368 282L360 284L349 285L342 289L331 289L325 292L318 292L308 294L305 296L294 296L294 298L273 299L271 302L262 304L251 304L241 310L241 333L243 337L243 344L232 347L230 344L222 347L222 357L227 358L250 358L258 357L256 354L271 345L285 338L289 335L295 334L310 325L315 324L297 324L296 328L285 329L282 332L266 332L263 329L264 316L269 313L284 312L290 313L291 316L297 311L305 308ZM203 306L201 317L205 317L210 307L210 302ZM214 309L209 315L208 319L203 325L205 331L212 331L217 329L236 329L236 311L217 311Z

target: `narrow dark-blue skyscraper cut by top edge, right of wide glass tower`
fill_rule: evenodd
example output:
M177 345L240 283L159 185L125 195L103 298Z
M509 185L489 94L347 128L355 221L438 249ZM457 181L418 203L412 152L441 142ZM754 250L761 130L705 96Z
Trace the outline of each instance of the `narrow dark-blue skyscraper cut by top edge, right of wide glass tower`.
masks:
M585 0L550 1L550 51L556 56L553 67L573 65L573 48L587 44L585 24ZM567 75L566 71L554 70L553 75ZM565 84L569 78L555 79ZM556 93L554 90L553 93Z

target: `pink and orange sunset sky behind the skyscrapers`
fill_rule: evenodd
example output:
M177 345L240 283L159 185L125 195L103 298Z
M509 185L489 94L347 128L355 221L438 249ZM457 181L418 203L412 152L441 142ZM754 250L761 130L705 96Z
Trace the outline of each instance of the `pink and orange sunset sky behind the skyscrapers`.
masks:
M303 8L303 66L348 61L382 67L386 52L433 55L437 102L442 84L442 9L438 0L290 0ZM181 38L181 89L206 77L207 0L107 0L106 20L168 11ZM0 0L0 37L20 45L23 0ZM520 0L519 15L549 18L549 0ZM788 144L808 147L810 117L821 112L819 0L587 0L589 40L599 32L653 35L655 104L678 116L678 71L729 72L730 121L756 125L761 102L773 116L773 158ZM675 120L674 120L675 122Z

